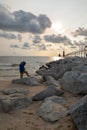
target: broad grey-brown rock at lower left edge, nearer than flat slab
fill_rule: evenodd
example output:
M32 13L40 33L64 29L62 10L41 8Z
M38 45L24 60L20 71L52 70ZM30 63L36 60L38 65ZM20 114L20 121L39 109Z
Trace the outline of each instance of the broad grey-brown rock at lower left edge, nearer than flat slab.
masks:
M28 107L31 103L32 99L24 94L12 94L10 96L0 97L0 107L6 113L14 109Z

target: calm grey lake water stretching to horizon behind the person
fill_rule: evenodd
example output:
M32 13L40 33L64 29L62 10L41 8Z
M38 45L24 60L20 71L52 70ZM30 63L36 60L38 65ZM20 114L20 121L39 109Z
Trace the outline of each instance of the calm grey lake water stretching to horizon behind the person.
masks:
M25 68L29 74L34 74L40 66L57 60L57 57L0 56L0 79L19 78L19 63L23 60L27 62Z

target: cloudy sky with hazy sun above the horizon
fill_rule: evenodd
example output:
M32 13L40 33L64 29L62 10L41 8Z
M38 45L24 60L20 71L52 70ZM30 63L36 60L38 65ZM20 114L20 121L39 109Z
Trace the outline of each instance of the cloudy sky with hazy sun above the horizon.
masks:
M58 56L87 46L87 0L0 0L0 56Z

